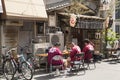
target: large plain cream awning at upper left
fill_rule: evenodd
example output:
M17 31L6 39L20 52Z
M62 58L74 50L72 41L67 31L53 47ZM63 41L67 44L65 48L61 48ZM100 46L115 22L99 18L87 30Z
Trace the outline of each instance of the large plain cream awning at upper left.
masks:
M46 20L43 0L4 0L7 18Z

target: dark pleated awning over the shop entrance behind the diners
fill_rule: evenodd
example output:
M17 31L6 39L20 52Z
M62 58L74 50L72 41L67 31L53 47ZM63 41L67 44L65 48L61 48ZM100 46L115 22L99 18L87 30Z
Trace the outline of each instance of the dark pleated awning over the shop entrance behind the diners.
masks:
M64 16L70 16L69 13L59 13ZM77 22L75 28L80 29L103 29L104 18L97 16L87 16L87 15L76 15Z

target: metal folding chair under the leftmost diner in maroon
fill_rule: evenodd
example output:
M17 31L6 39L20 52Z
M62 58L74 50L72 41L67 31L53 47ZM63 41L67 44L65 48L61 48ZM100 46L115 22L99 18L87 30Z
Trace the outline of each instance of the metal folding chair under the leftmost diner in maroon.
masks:
M53 60L54 61L62 61L63 57L61 55L55 55L54 57L52 57L51 61L50 61L50 73L52 73L53 69L63 69L64 64L58 64L58 65L54 65L53 64Z

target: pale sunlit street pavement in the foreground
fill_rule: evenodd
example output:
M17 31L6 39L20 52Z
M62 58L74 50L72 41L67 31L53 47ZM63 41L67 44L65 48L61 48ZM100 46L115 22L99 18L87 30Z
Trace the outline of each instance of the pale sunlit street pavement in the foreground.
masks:
M120 63L101 62L95 70L86 70L85 75L49 76L48 73L36 72L32 80L120 80ZM5 80L1 78L0 80ZM23 80L23 79L21 79Z

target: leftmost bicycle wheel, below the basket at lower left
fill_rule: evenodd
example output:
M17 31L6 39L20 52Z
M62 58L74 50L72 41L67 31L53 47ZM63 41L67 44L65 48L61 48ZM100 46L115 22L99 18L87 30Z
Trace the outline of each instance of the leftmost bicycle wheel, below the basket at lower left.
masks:
M8 59L3 64L3 74L7 80L13 80L15 74L14 63Z

